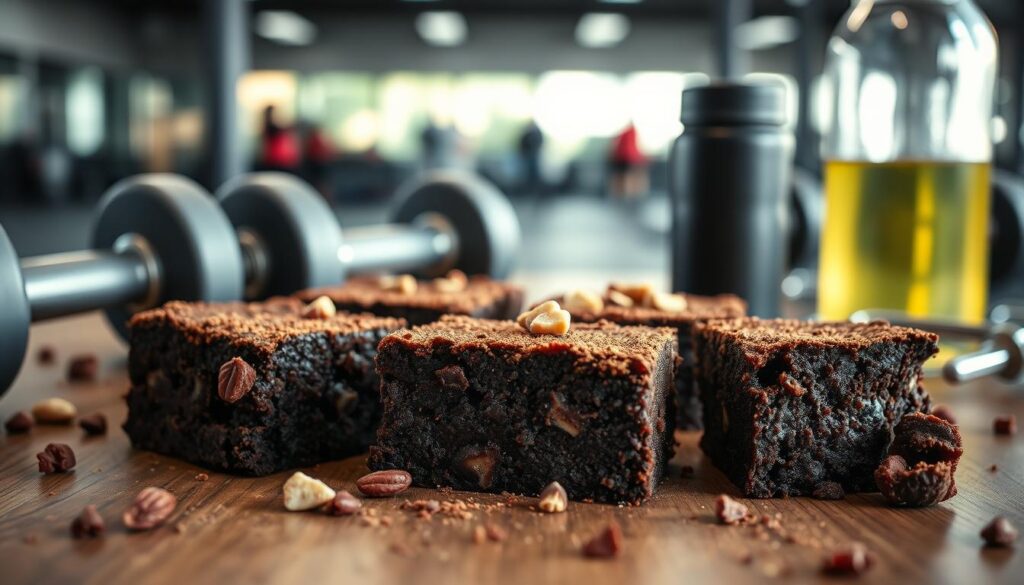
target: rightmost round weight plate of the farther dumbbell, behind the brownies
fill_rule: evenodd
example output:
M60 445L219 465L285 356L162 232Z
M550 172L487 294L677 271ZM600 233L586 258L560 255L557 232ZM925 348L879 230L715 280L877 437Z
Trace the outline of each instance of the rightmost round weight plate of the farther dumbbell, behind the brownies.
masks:
M411 223L427 214L444 217L458 237L454 266L435 266L439 276L455 267L468 275L503 279L512 270L519 252L519 219L498 187L459 171L433 171L398 190L401 203L393 220ZM430 270L428 270L429 273Z

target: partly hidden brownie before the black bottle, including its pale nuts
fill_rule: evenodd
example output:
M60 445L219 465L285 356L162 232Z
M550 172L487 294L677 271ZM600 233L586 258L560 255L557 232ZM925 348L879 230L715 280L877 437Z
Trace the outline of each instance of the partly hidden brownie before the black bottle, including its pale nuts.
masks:
M649 284L611 284L603 295L578 290L554 298L575 322L603 319L618 325L674 328L682 358L676 371L676 425L684 430L703 427L700 398L693 384L693 326L709 319L743 317L746 302L731 294L659 293Z

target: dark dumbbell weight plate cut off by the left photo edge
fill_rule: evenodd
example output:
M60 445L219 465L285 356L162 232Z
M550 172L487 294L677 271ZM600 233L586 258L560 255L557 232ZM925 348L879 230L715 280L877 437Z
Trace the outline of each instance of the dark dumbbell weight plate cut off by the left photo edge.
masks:
M32 315L25 296L22 265L0 226L0 395L10 387L25 360Z

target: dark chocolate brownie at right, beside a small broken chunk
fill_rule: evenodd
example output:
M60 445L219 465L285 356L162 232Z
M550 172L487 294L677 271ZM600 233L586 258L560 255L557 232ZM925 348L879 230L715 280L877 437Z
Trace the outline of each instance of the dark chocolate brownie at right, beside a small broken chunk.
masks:
M749 497L874 491L893 427L930 408L920 382L937 340L884 322L698 324L700 447Z

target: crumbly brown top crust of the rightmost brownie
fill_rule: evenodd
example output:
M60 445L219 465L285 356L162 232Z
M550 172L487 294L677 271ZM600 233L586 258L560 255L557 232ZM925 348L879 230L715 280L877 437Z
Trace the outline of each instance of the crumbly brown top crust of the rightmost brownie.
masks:
M814 322L750 317L710 321L698 324L696 330L715 333L741 345L748 353L760 354L795 346L846 347L852 350L876 343L924 342L934 346L939 340L934 333L890 325L886 321ZM933 353L938 350L937 347L933 349Z

